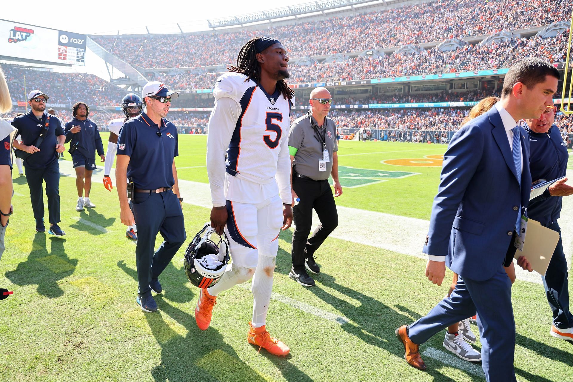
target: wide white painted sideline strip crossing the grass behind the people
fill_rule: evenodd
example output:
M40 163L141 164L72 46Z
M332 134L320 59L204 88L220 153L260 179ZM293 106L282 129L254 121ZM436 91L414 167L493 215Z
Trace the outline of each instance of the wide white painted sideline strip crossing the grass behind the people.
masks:
M72 163L68 161L60 161L60 172L62 175L72 178L76 177ZM96 174L96 172L101 173L99 168L94 171L95 176L92 177L92 182L103 183L103 177L100 176L101 174ZM112 169L112 172L113 174L110 174L110 176L112 179L115 179L115 170ZM567 170L567 177L573 180L573 170ZM115 190L113 191L115 192ZM213 206L211 203L211 191L207 183L179 179L179 191L181 192L181 196L183 196L184 203L205 208L211 208ZM344 198L344 195L341 197ZM331 237L427 259L427 255L422 253L422 246L429 229L429 220L342 206L338 206L337 210L339 224L336 230L330 235ZM318 222L318 216L315 213L313 214L314 224L312 230L316 228ZM563 249L566 254L568 266L571 269L571 253L573 251L573 196L563 198L563 210L561 211L559 223L562 230ZM357 235L357 233L364 232L366 229L372 234ZM517 265L515 268L517 279L541 283L541 277L536 272L529 273Z

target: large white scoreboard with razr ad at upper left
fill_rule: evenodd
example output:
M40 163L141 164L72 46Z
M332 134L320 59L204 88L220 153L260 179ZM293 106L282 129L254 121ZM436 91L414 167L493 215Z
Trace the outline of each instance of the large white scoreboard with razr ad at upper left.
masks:
M85 34L0 19L0 56L85 66Z

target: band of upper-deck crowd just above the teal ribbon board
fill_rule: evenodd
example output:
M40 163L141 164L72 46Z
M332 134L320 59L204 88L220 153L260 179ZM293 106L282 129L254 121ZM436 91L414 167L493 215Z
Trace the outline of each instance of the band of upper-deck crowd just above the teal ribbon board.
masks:
M289 83L321 81L367 80L370 78L414 76L468 70L505 68L515 60L539 57L549 62L564 61L567 51L565 30L558 36L541 38L512 37L510 40L492 44L466 44L456 50L442 52L437 47L422 50L386 54L381 57L359 56L342 62L320 62L313 65L289 65ZM175 89L211 89L223 72L191 74L183 72L175 76L158 78Z

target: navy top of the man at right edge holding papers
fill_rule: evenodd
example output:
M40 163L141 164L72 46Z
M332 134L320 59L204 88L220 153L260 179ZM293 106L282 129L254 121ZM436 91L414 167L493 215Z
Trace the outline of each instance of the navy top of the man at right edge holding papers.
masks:
M529 129L529 170L531 180L552 180L567 172L569 153L561 132L552 125L547 133L536 133ZM550 196L548 191L532 199L527 207L527 216L548 226L559 219L563 196Z

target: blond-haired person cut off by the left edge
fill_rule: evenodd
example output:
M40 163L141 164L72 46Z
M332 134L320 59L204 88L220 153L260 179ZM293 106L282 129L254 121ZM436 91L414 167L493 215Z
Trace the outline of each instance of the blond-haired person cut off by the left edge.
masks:
M7 113L12 108L12 99L6 84L6 78L0 68L0 114ZM0 118L0 258L4 252L4 236L8 219L13 208L12 200L12 149L11 139L14 137L15 128Z

